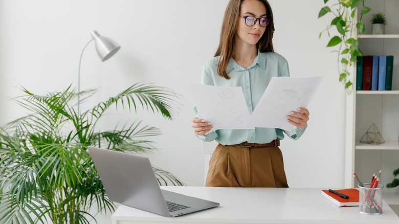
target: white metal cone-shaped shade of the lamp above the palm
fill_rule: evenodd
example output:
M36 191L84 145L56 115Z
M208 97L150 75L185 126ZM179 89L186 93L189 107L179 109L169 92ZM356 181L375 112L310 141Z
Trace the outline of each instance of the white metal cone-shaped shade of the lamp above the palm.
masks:
M97 54L101 61L105 61L112 57L121 48L113 39L101 36L97 31L92 31L92 37L96 42Z

